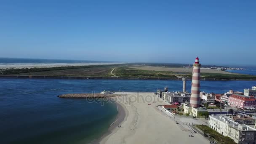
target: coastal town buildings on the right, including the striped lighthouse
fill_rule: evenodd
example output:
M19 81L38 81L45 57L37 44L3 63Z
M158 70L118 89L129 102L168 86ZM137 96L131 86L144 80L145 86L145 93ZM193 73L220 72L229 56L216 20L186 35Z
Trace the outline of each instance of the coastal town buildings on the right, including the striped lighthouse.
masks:
M190 130L193 133L202 134L211 144L222 143L224 137L230 138L237 144L255 144L256 86L245 88L243 92L233 90L226 93L200 91L198 58L195 59L193 68L191 93L186 91L186 77L182 79L183 91L169 92L168 87L165 87L164 90L157 90L155 93L157 97L168 103L160 107L162 112L170 117L176 117L177 124L179 124L178 119L181 120L183 115L190 117L191 120L187 120L191 121L189 123Z

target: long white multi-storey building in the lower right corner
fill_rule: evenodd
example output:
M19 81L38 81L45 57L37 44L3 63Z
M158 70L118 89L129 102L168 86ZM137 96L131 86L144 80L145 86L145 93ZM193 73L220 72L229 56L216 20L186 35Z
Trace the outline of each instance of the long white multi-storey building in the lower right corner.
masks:
M237 144L255 144L256 129L249 125L234 122L232 118L224 115L209 115L208 126L223 136L228 136Z

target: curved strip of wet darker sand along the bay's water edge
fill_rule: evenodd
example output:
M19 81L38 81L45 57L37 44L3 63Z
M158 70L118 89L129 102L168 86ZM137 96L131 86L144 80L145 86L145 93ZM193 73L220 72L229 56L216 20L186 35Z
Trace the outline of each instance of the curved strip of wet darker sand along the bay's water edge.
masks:
M118 125L122 125L124 121L126 121L128 117L127 109L120 103L116 102L118 109L118 114L115 118L115 121L109 125L109 128L106 133L104 133L98 140L95 141L95 144L101 144L102 142L105 143L107 139L118 130Z

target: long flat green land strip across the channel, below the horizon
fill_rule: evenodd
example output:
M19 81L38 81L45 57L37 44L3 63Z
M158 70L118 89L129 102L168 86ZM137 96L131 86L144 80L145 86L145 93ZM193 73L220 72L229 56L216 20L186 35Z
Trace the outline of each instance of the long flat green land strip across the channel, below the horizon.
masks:
M180 80L185 76L188 80L192 78L192 68L110 64L77 67L0 69L0 77L24 78ZM256 76L216 69L201 69L201 80L256 80Z

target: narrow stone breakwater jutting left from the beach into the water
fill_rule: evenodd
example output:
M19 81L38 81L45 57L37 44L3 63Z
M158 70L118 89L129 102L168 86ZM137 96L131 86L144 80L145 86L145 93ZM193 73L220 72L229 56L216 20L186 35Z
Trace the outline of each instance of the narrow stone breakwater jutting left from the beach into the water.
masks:
M61 94L59 98L110 98L115 96L122 96L121 94L101 94L101 93L67 93Z

